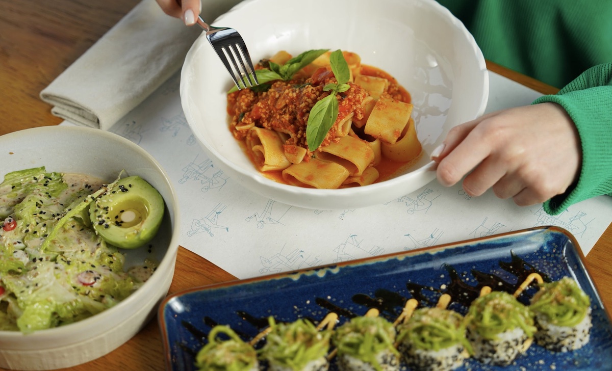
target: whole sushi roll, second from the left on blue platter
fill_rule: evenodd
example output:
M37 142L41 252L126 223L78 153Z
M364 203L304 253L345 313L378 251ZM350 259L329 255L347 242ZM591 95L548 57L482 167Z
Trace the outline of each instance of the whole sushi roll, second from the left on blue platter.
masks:
M319 330L311 321L299 319L291 323L276 323L269 318L266 344L259 353L272 371L324 371L329 369L327 353L332 336L327 329Z

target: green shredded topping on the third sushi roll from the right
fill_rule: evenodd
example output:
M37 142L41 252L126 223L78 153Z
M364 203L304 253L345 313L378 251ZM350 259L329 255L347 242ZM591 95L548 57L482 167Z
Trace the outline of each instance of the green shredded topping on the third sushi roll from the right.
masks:
M473 353L465 337L463 316L453 310L438 307L417 309L398 332L398 341L408 341L418 349L438 351L460 344Z

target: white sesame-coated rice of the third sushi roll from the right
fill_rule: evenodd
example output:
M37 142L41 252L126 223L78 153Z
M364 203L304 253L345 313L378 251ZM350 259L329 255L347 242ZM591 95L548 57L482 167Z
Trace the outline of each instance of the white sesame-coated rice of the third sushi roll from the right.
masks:
M398 346L404 361L411 369L424 371L454 370L463 365L468 353L461 344L440 350L424 350L412 347L408 342Z

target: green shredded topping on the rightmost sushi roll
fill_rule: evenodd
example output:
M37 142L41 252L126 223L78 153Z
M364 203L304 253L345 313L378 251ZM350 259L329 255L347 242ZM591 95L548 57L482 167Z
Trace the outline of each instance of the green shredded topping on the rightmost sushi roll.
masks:
M591 299L570 277L544 283L531 299L531 310L557 326L573 327L586 317Z

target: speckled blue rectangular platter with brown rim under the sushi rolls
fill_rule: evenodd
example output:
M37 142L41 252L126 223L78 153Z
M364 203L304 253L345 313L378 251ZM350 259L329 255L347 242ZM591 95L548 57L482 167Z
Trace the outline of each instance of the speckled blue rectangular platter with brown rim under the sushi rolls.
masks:
M267 326L271 315L277 321L308 318L318 323L334 311L342 322L376 307L394 321L406 300L416 298L421 306L434 306L442 293L452 297L450 309L465 314L483 285L513 293L534 272L545 281L570 276L591 297L590 342L568 353L553 353L534 343L509 367L485 366L470 359L460 370L610 369L610 318L584 267L575 238L558 227L176 293L168 296L159 310L166 366L170 370L195 369L194 356L216 324L230 325L243 339L250 340ZM528 287L519 296L520 301L528 304L535 291L535 285ZM330 369L336 370L335 365Z

